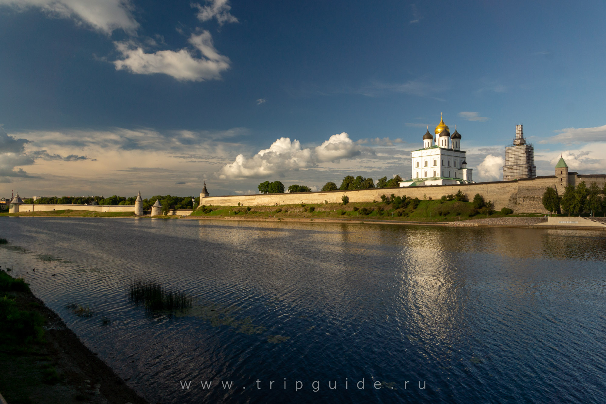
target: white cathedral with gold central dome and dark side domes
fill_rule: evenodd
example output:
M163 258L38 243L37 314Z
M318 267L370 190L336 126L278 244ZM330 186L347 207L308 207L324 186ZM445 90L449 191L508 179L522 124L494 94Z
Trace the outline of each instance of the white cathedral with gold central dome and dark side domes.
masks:
M402 181L401 187L424 185L453 185L473 183L472 169L467 168L465 152L461 150L461 135L450 134L450 129L440 118L434 131L435 138L427 132L423 136L423 148L411 152L412 178Z

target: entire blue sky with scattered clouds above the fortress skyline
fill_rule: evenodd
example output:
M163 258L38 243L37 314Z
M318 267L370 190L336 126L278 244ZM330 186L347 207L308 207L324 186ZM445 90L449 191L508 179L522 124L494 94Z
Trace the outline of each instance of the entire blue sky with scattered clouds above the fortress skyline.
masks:
M606 172L604 2L168 4L0 0L2 195L410 177L440 113L476 180L519 123Z

